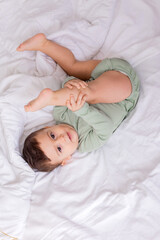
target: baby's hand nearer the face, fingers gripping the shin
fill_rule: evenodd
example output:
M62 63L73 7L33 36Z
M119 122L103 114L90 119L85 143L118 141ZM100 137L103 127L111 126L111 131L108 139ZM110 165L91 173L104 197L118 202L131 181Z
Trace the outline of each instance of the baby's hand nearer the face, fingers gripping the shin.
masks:
M86 95L80 92L77 97L77 101L75 100L74 95L70 95L70 99L67 100L66 105L72 112L75 112L79 110L81 107L83 107L85 101Z

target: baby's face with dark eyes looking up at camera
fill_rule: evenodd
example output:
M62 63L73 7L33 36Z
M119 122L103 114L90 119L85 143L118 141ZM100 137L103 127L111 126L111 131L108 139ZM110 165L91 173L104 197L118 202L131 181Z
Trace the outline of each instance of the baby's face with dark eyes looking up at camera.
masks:
M67 124L46 127L37 136L41 150L52 163L69 160L78 147L78 134Z

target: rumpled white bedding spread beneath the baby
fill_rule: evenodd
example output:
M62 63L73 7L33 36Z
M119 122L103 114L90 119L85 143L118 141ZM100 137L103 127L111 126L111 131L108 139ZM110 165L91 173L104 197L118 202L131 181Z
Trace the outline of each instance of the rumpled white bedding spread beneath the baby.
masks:
M0 1L0 240L160 239L160 2ZM54 123L52 107L25 113L66 74L40 52L16 52L44 32L77 59L121 57L136 69L136 109L101 149L51 173L21 158L25 137Z

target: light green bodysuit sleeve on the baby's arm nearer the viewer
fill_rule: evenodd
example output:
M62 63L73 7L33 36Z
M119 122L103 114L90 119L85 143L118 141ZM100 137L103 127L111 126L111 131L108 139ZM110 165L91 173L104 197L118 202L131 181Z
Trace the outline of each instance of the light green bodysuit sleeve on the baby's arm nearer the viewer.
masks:
M98 149L112 135L114 127L111 118L93 105L85 103L80 110L74 113L90 126L89 132L79 144L80 152L91 152Z

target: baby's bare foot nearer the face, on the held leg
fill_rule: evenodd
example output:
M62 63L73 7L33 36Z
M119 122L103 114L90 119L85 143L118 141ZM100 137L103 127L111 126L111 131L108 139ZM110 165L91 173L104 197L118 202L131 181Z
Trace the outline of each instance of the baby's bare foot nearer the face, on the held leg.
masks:
M25 111L35 112L48 105L53 105L53 95L54 92L51 89L45 88L40 92L37 98L33 99L27 105L24 106Z

